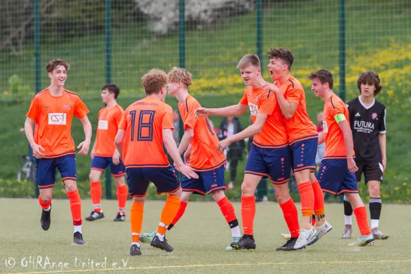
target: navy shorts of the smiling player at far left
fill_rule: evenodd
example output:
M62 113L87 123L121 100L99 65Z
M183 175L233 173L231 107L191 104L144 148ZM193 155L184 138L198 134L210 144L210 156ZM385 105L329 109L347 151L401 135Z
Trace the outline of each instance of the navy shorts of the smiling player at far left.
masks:
M36 177L38 188L52 188L55 183L55 169L60 171L63 182L66 179L76 180L75 155L64 155L58 158L36 159Z

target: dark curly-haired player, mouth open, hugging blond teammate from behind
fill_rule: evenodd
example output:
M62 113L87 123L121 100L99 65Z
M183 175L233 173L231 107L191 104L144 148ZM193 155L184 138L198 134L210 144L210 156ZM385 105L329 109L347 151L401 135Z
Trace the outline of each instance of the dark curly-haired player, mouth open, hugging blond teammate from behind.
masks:
M288 244L294 243L295 249L302 249L332 229L325 221L323 192L314 175L318 132L308 116L303 86L290 72L294 61L292 53L287 49L272 48L269 59L268 68L274 84L266 85L264 90L273 90L283 114L303 214L299 237L291 237ZM316 228L311 222L313 211L317 219Z

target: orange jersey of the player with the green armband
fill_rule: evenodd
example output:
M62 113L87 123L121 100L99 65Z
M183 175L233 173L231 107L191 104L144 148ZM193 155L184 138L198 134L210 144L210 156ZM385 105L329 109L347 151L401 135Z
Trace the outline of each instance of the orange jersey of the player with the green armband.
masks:
M323 112L323 134L325 141L325 153L326 158L347 158L347 150L345 147L344 134L338 127L336 121L336 115L343 114L347 123L349 123L349 112L347 105L337 95L333 94L332 97L325 102ZM341 123L344 119L337 119ZM354 155L354 151L353 151Z

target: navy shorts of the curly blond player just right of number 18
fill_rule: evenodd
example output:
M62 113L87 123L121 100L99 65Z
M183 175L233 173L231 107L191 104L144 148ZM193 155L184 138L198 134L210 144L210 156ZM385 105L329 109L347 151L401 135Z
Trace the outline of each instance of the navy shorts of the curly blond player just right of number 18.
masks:
M224 166L211 171L196 171L198 179L183 178L183 191L192 191L194 194L206 195L219 189L225 189Z

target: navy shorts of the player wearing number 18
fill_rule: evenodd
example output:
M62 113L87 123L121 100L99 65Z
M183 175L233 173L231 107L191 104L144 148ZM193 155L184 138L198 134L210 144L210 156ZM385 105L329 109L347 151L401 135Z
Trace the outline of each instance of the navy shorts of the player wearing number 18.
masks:
M157 194L173 193L180 188L177 172L173 166L128 168L127 185L130 197L144 197L149 182L157 187Z

